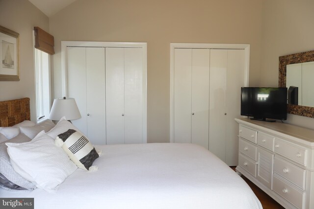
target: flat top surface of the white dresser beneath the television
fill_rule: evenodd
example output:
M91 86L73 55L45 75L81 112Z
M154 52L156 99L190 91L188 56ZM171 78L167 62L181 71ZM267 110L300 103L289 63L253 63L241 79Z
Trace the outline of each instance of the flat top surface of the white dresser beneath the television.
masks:
M249 118L235 118L235 120L243 125L249 125L261 130L269 131L282 137L290 138L301 143L314 146L314 130L303 128L288 123L266 122L259 120L251 120ZM300 139L304 141L300 141Z

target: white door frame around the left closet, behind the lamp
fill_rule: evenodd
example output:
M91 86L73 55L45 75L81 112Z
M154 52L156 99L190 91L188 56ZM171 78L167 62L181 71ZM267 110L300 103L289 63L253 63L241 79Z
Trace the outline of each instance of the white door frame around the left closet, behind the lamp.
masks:
M92 41L61 41L61 80L62 97L68 96L67 89L67 47L124 47L142 48L142 121L143 143L147 143L147 43L144 42L92 42Z

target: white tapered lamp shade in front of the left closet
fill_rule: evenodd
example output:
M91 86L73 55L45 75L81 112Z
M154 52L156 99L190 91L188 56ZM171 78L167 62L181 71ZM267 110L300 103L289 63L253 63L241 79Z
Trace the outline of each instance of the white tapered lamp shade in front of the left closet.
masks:
M78 105L74 98L54 99L49 119L60 120L60 118L63 116L65 116L67 120L74 120L81 117L78 110Z

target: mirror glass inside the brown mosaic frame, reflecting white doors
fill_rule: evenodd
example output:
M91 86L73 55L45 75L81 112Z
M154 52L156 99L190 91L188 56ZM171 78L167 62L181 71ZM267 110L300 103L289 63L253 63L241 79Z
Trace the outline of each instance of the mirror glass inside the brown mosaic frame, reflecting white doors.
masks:
M314 62L287 65L288 104L314 107Z

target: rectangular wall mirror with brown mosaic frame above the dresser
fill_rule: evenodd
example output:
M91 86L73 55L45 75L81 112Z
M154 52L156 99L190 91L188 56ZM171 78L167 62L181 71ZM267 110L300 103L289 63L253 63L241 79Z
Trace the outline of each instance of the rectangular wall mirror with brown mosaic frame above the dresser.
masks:
M314 117L313 80L314 51L279 57L279 87L288 88L289 114Z

